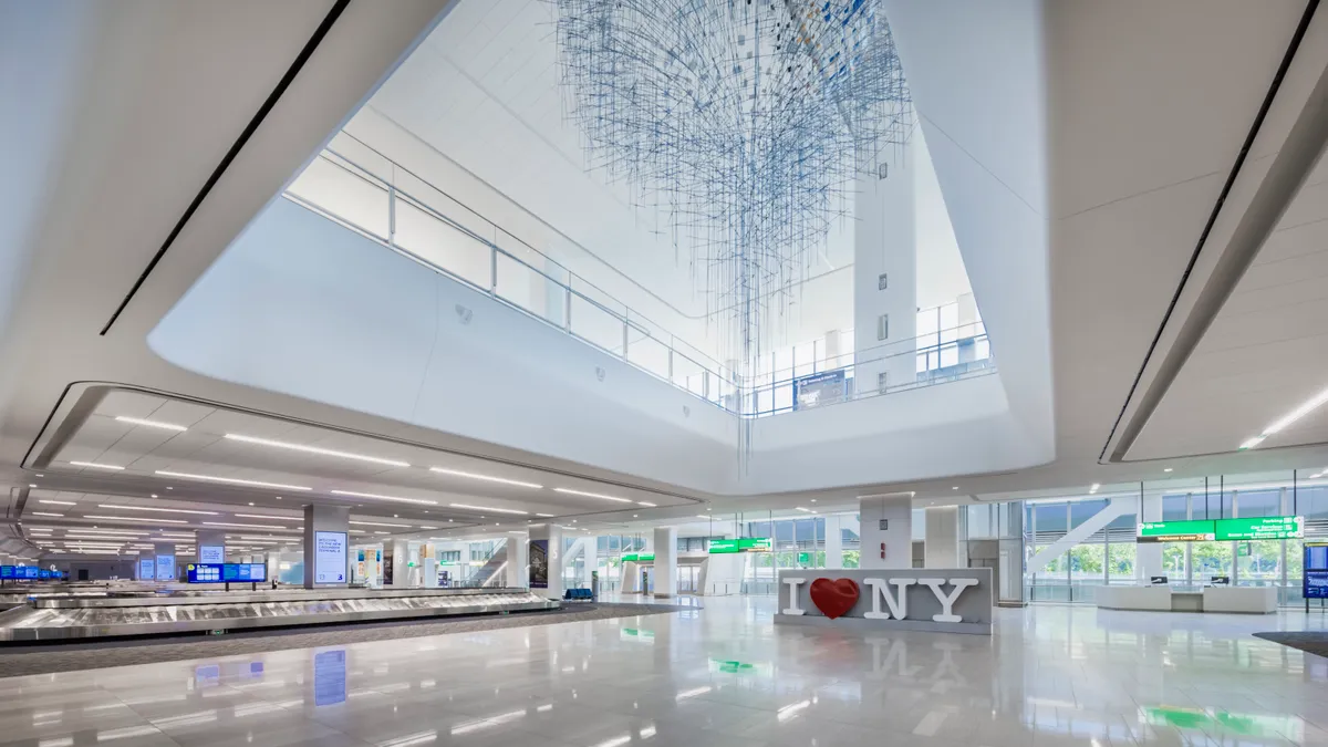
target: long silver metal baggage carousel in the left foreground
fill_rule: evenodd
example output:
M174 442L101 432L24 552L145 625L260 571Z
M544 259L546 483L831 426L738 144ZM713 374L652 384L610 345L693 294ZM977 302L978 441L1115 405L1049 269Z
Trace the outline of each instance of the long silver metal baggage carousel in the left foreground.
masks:
M0 613L0 645L555 610L527 589L296 589L31 598Z

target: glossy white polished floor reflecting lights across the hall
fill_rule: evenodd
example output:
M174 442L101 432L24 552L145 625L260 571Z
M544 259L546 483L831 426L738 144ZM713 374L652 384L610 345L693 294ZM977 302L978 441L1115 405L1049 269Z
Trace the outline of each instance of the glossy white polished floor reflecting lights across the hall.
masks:
M863 637L703 603L0 679L0 744L1328 744L1328 659L1250 635L1321 613L1041 606L992 637Z

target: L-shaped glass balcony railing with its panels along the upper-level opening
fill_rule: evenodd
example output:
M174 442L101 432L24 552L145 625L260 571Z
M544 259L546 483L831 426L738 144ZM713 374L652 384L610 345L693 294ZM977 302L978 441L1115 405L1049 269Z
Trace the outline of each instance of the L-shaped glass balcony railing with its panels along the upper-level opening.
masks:
M347 133L284 197L741 417L996 371L975 322L742 376Z

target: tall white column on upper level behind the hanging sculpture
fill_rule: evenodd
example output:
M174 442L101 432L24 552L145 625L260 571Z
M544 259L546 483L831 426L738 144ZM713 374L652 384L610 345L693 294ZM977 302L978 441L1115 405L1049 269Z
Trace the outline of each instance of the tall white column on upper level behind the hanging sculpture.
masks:
M914 381L918 376L916 359L907 355L915 346L906 342L918 335L914 199L914 161L918 156L912 150L911 145L899 149L884 146L882 169L875 174L862 174L855 182L854 388L859 393L876 391L880 374L886 375L888 387ZM880 328L883 315L888 318L884 330ZM882 358L884 355L888 358ZM880 560L878 548L876 560Z

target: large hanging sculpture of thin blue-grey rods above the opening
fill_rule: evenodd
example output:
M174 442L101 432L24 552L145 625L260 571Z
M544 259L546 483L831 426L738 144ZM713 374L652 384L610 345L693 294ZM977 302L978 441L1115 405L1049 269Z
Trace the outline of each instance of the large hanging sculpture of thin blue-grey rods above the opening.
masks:
M724 356L760 355L854 179L912 128L875 0L554 0L588 163L687 247Z

